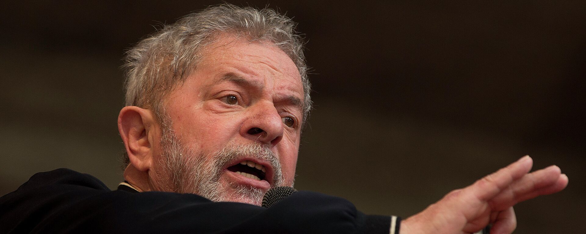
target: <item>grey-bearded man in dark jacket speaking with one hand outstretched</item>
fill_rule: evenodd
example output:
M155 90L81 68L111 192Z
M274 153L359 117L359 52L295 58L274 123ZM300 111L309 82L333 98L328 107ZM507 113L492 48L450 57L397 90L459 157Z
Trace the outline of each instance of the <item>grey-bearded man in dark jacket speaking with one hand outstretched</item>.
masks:
M293 186L312 104L294 25L222 5L139 42L118 117L125 182L36 174L0 198L0 232L511 233L513 205L567 185L556 166L529 173L525 156L403 222L306 191L258 207L271 187Z

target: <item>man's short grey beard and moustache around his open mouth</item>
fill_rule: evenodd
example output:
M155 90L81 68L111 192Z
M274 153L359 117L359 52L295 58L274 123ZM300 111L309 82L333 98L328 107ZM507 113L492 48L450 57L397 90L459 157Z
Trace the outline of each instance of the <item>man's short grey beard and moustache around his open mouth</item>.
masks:
M261 144L228 144L222 150L209 154L195 153L180 144L171 126L162 125L161 147L163 155L159 161L161 172L158 173L159 188L166 191L197 194L211 201L248 200L261 204L263 190L247 185L219 183L222 168L230 161L243 156L252 156L268 161L274 168L273 187L283 186L285 179L278 157ZM166 178L165 178L166 177ZM228 188L231 188L229 190Z

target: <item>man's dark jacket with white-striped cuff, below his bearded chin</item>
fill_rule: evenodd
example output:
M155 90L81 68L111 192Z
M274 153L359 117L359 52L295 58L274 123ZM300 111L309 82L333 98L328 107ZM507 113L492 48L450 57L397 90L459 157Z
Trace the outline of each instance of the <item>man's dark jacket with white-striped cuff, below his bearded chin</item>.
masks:
M393 217L393 221L394 221ZM271 208L193 194L110 191L69 169L38 173L0 198L0 233L390 233L391 217L299 191Z

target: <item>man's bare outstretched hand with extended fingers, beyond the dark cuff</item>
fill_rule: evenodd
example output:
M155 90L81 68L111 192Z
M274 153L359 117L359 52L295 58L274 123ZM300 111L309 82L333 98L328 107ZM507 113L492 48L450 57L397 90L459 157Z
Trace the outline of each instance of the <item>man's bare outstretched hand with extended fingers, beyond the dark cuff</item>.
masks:
M533 160L524 156L468 187L449 192L424 211L401 222L400 234L478 232L489 223L491 234L512 233L513 205L565 188L568 177L557 166L529 173Z

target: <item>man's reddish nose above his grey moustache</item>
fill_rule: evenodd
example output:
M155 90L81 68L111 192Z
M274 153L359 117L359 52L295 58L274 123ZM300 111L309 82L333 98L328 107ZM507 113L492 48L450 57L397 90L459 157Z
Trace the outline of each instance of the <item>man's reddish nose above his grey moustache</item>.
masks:
M284 126L277 109L268 103L258 103L240 130L240 135L255 142L277 145L283 137Z

